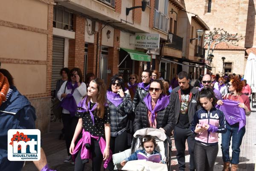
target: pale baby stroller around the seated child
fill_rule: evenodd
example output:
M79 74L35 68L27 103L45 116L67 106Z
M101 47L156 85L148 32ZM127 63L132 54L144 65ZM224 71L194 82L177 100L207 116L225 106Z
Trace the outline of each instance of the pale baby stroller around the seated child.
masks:
M148 161L143 161L143 160L133 160L129 162L125 162L125 166L122 168L121 162L123 164L123 160L126 158L130 157L131 154L133 154L136 151L143 150L141 146L141 140L143 140L144 136L151 136L155 139L155 144L157 146L154 147L154 149L159 152L161 155L161 161L166 164L160 164L160 163L153 163L153 162L148 162ZM128 171L137 171L140 170L139 168L142 168L145 166L144 170L150 170L150 171L164 171L164 170L170 170L171 166L171 149L172 149L172 142L171 139L166 136L166 134L159 129L156 128L143 128L140 130L137 130L134 133L134 138L132 141L131 149L128 149L126 151L122 151L117 154L113 154L113 163L115 166L115 169L122 169ZM157 169L156 169L157 168ZM168 168L168 169L167 169Z

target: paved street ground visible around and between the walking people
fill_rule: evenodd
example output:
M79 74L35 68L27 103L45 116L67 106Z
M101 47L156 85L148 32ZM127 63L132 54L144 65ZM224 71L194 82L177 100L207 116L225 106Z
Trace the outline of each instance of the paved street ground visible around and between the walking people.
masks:
M240 147L240 163L238 171L256 171L256 106L252 108L251 115L247 117L246 132ZM74 165L64 163L63 160L67 156L65 141L59 140L58 136L61 133L62 123L51 122L50 133L42 135L42 147L47 156L47 161L50 168L57 171L73 171ZM230 145L231 147L231 145ZM230 156L232 149L230 148ZM186 171L189 171L189 152L186 144ZM215 161L214 171L222 171L223 162L221 154L221 134L219 136L219 150ZM37 171L32 162L26 162L22 171ZM91 162L85 165L84 171L91 171ZM102 169L103 171L103 169ZM172 138L172 166L171 171L178 171L176 159L176 148L174 139Z

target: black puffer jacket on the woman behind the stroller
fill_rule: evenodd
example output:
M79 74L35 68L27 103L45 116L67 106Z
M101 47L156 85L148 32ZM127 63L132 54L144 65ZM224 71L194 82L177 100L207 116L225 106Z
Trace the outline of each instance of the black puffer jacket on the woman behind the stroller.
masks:
M157 112L157 128L163 128L170 135L175 125L174 114L171 113L171 104ZM134 119L134 132L142 128L148 128L148 108L142 100L137 106Z

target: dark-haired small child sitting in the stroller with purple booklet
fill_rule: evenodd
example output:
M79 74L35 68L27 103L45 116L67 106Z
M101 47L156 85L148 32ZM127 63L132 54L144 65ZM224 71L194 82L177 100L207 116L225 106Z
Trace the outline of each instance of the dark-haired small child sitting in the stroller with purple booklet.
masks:
M135 153L133 153L130 157L125 158L121 165L124 166L126 162L131 160L137 160L137 159L147 159L146 157L154 155L154 158L152 158L152 162L157 162L158 160L160 163L164 163L162 160L161 154L155 148L157 147L156 140L151 135L145 135L142 137L140 146L143 147L142 150L137 150ZM146 157L140 157L140 154L144 154ZM155 155L158 154L158 155ZM149 158L148 158L149 160Z

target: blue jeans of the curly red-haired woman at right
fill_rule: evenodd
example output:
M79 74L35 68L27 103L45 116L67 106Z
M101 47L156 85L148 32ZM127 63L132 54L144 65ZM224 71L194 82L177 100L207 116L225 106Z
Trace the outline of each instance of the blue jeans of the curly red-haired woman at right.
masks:
M226 122L227 132L221 134L221 151L224 162L239 164L240 145L245 133L245 126L238 131L239 124L229 125ZM232 160L230 161L229 147L232 137Z

